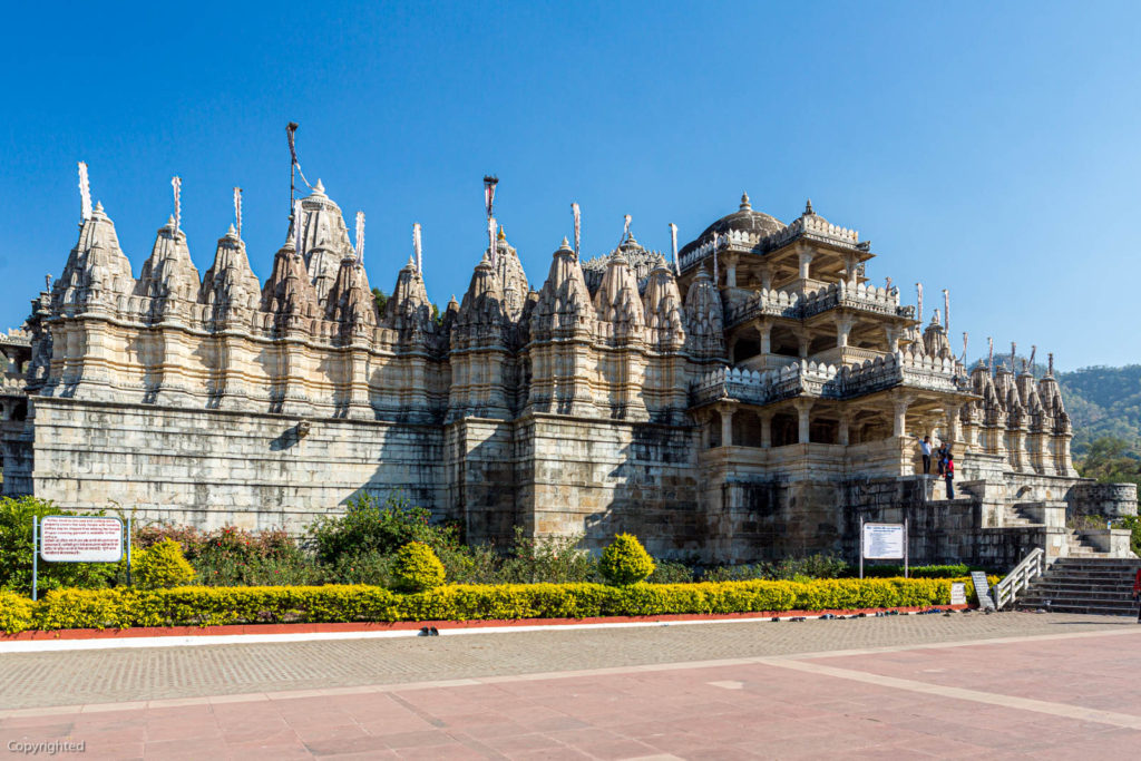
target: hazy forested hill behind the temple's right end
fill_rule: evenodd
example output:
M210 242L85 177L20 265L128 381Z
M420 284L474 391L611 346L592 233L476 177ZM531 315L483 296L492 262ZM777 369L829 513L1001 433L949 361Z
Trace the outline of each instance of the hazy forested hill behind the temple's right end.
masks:
M1074 422L1074 454L1084 455L1103 436L1141 453L1141 365L1083 367L1058 373L1066 411Z

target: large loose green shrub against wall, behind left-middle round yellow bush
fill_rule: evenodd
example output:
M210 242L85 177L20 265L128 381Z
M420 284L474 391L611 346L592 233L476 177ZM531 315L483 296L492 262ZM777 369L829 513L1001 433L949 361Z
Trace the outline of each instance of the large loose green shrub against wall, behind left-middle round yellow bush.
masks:
M432 549L459 544L454 526L431 523L431 512L399 495L380 502L371 494L349 500L345 515L323 516L309 527L309 539L323 564L365 552L390 554L408 542Z

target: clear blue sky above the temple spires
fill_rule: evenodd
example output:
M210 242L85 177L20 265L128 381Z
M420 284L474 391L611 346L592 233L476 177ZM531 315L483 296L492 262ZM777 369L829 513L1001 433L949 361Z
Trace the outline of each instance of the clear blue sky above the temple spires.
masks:
M429 294L462 294L496 216L535 288L583 208L669 248L811 197L879 258L952 293L953 345L1037 345L1062 369L1141 362L1141 6L1055 3L18 3L0 49L0 326L75 242L75 162L136 276L183 177L204 272L244 188L264 281L289 153L367 216L391 290L423 225Z

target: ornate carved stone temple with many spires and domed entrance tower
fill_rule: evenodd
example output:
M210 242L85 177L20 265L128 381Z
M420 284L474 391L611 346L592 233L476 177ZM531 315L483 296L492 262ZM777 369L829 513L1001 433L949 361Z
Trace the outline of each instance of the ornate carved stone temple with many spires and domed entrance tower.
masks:
M1067 528L1136 494L1077 477L1052 363L969 369L949 302L925 322L874 285L867 241L811 203L784 224L743 196L669 258L628 219L585 262L564 238L541 284L499 229L439 311L419 252L378 309L319 180L265 283L240 217L200 274L176 211L135 277L89 207L0 337L5 494L301 531L398 492L474 542L629 531L720 562L855 559L860 520L904 518L915 561L1128 554L1120 532ZM955 453L955 499L922 473L928 435Z

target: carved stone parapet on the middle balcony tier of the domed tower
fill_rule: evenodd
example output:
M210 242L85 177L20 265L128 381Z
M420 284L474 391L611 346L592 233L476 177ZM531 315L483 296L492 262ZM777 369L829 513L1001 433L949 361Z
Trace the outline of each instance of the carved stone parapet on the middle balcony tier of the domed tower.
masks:
M840 281L808 296L762 289L744 301L730 306L726 313L726 324L733 326L764 316L804 319L836 307L891 317L914 314L914 310L908 313L907 307L899 306L898 289L888 290L866 283L848 285Z

